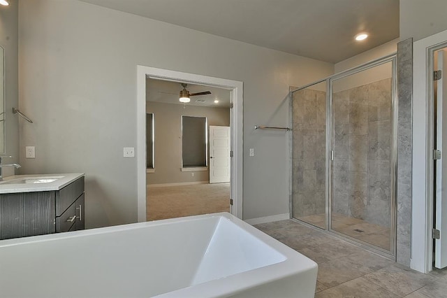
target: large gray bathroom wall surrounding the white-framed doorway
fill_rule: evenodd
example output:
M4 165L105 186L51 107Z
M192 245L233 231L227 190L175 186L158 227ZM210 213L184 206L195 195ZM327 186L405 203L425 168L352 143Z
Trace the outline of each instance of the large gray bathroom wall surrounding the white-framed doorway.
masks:
M244 219L288 213L288 86L334 65L75 0L20 1L24 173L86 173L86 225L137 220L136 66L244 82ZM182 47L179 47L182 44ZM36 146L36 159L24 158ZM256 156L249 157L249 148Z

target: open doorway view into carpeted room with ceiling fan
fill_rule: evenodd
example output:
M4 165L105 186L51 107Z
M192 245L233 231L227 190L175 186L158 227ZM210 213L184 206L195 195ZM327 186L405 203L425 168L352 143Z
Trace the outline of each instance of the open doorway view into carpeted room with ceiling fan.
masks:
M147 220L230 212L230 90L149 77L146 88Z

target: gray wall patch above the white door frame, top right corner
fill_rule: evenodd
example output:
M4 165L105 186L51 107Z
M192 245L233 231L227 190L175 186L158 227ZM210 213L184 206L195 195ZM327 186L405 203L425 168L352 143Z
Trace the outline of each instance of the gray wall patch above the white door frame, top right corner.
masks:
M418 41L447 29L446 0L400 0L400 40Z

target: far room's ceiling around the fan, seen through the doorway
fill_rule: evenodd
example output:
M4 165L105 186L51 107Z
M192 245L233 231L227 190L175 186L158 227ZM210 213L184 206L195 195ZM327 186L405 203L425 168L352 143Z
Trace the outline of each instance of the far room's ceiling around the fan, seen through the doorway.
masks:
M182 104L179 101L179 92L183 87L180 83L168 80L146 79L146 100L162 102L164 104ZM202 85L188 84L186 87L190 93L210 91L209 95L198 95L191 97L186 106L208 106L213 108L230 108L230 90L208 87ZM215 104L214 100L219 103Z

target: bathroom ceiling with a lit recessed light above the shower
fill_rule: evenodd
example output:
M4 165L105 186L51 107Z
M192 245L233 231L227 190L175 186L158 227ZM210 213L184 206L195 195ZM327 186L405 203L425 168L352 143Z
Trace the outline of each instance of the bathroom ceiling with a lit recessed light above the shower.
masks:
M80 1L333 63L399 37L399 0Z

